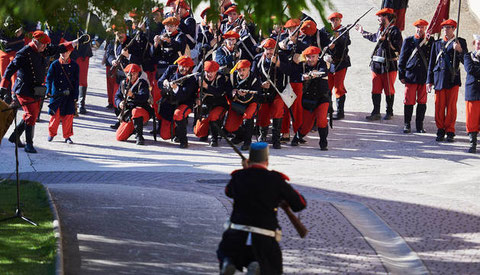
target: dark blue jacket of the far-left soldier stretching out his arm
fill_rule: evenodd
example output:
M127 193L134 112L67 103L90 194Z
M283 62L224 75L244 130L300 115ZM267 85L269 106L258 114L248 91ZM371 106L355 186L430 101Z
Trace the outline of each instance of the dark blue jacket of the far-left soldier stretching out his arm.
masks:
M64 45L49 44L43 52L37 52L33 42L30 42L17 52L15 58L8 65L3 75L2 87L10 88L9 79L18 71L13 90L18 95L33 97L33 88L42 85L45 81L47 68L45 57L66 51L67 48ZM7 85L3 82L7 82Z

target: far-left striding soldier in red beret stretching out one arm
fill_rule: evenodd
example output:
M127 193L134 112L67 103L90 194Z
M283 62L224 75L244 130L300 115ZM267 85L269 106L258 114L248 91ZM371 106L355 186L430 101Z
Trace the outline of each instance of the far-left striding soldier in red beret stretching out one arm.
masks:
M70 50L79 43L79 40L59 46L50 45L50 42L50 37L43 31L35 31L32 35L32 41L17 52L0 82L1 89L6 90L5 92L10 91L12 76L18 71L18 78L15 81L13 91L25 113L22 121L17 125L17 131L12 133L8 141L17 142L19 147L23 147L19 140L15 140L15 135L17 134L20 137L25 131L27 143L25 152L27 153L37 153L37 150L33 147L33 132L40 112L40 100L43 100L46 92L46 87L43 86L47 67L45 57Z

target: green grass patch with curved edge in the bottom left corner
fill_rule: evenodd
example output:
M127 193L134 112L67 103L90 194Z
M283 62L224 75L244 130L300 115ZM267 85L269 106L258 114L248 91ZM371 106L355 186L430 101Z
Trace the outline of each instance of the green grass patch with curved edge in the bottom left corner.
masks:
M20 181L20 202L23 215L38 226L20 218L0 222L0 274L55 274L56 239L46 191L37 182ZM0 220L15 215L16 207L16 182L0 182Z

